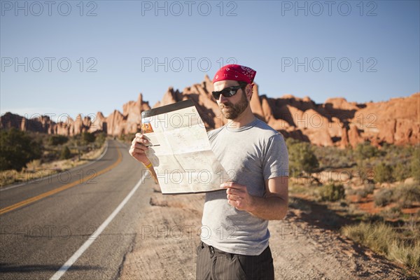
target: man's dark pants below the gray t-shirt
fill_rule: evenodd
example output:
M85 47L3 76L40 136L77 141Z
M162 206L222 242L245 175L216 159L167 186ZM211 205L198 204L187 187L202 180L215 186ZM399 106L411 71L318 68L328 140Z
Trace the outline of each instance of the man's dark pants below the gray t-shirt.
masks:
M226 253L200 242L197 247L197 279L274 279L272 253L260 255Z

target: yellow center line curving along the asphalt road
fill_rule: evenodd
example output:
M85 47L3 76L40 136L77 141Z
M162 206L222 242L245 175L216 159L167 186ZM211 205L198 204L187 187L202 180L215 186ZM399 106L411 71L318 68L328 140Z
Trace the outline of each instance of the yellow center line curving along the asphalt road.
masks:
M113 169L114 167L116 167L117 165L120 164L120 162L123 160L123 155L121 155L120 149L116 146L117 151L118 151L118 159L116 162L114 162L112 165L110 165L109 167L106 167L105 169L102 169L101 171L99 171L97 173L97 176L104 174L105 172L109 172L109 170ZM55 188L54 190L50 190L46 193L41 193L41 195L36 195L36 197L31 197L28 198L27 200L23 200L22 202L18 202L16 204L10 205L8 207L4 207L2 209L0 209L0 215L2 214L6 214L7 212L13 211L15 209L18 209L20 207L24 207L27 204L30 204L32 202L36 202L38 200L42 200L45 197L49 197L50 195L55 195L56 193L62 192L63 190L67 190L68 188L71 188L73 186L77 186L79 184L83 184L85 183L85 181L92 179L92 177L87 176L86 179L83 180L77 180L71 183L68 183L64 186L61 186L59 188Z

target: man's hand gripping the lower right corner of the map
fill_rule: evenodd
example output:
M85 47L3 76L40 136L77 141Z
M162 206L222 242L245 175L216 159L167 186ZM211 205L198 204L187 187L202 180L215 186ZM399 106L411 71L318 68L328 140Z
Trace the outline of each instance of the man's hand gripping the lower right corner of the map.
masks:
M248 193L246 186L239 183L223 183L221 188L226 189L228 203L241 211L251 212L253 209L253 196Z

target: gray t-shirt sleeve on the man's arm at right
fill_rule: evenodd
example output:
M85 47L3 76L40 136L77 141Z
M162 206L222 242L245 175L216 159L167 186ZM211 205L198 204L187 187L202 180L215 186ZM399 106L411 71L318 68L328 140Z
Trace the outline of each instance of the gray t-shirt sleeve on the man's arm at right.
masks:
M262 159L262 171L265 180L288 176L288 151L283 135L278 133L269 138Z

